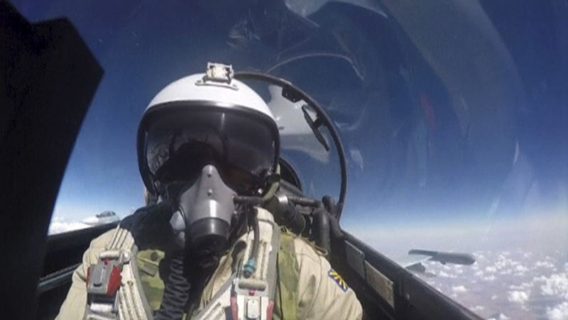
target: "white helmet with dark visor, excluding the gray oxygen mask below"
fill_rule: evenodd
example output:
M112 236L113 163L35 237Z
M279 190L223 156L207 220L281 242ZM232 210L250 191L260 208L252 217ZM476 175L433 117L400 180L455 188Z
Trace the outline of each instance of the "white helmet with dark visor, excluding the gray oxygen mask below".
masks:
M274 117L230 65L207 64L207 73L168 84L146 108L138 127L138 167L151 194L191 180L215 165L239 192L265 187L278 164L280 139Z

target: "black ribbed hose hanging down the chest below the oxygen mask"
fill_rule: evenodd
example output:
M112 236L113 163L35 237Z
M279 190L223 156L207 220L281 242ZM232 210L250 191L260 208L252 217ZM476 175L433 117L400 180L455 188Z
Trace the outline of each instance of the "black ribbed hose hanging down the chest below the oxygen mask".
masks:
M164 296L160 309L155 312L155 320L182 319L191 288L184 275L183 266L182 253L170 260L170 273L164 281Z

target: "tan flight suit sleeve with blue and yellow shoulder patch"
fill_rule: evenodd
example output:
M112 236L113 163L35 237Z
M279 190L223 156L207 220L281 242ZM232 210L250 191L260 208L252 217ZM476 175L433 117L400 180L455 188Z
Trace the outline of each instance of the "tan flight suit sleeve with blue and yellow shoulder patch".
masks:
M294 246L300 271L297 319L361 319L355 292L327 259L300 238Z

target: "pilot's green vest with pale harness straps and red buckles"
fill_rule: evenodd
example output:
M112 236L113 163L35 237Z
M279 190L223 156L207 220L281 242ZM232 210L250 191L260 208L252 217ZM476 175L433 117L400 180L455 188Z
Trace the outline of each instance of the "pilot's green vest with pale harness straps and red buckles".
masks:
M246 246L236 262L236 272L191 319L295 318L299 275L294 236L280 231L268 211L257 209L257 214L256 270L249 277L242 271L251 254L253 233L249 232L240 240ZM158 250L138 252L132 234L118 226L107 250L87 272L84 319L153 319L163 297L164 284L158 272L161 258L163 253Z

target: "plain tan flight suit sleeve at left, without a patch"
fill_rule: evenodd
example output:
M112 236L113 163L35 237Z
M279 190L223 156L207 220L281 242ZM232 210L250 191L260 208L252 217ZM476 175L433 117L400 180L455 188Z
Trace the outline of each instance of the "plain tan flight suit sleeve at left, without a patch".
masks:
M91 241L89 248L83 254L82 264L73 272L71 287L55 319L83 319L87 305L87 269L97 263L99 253L109 243L113 232L114 229L107 231Z

